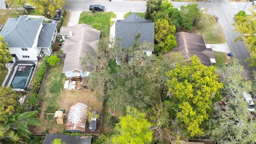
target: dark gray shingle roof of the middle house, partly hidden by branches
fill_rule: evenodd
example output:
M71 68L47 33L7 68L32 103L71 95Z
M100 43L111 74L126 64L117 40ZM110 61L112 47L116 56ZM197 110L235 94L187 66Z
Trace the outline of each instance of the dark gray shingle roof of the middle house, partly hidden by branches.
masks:
M138 14L133 13L124 20L116 21L115 37L122 38L121 46L130 47L134 43L134 36L140 32L139 42L152 42L154 44L155 23L144 20Z

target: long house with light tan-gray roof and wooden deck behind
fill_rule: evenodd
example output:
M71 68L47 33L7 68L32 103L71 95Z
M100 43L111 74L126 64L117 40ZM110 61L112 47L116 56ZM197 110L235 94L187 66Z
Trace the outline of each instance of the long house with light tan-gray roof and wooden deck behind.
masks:
M96 43L100 40L100 30L96 30L87 24L77 24L73 27L60 28L63 42L63 53L66 53L62 73L67 78L76 76L86 77L92 67L85 69L82 59L88 52L90 55L97 50ZM95 66L96 68L96 66Z

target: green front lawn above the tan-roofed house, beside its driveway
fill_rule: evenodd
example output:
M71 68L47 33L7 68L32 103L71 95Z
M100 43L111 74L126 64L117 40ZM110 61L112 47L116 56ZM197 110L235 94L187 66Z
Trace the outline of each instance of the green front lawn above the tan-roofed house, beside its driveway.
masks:
M88 24L97 30L100 30L103 37L108 37L110 33L110 20L112 12L82 12L79 18L79 24Z

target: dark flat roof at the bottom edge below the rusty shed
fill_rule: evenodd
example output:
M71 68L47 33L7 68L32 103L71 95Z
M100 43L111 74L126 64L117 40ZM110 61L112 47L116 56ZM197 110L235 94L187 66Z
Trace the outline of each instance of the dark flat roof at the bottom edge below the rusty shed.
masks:
M92 136L71 136L60 134L46 134L43 144L53 144L55 139L61 139L65 144L91 144Z

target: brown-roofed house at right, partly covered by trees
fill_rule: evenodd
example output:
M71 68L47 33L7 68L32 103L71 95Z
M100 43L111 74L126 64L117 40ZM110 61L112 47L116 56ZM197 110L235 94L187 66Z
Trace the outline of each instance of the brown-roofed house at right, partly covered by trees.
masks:
M170 52L182 52L185 60L190 60L196 55L205 66L216 63L214 52L212 48L206 46L203 36L188 32L176 32L174 36L176 36L177 46Z

